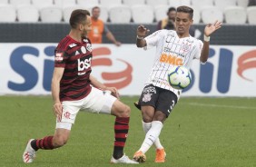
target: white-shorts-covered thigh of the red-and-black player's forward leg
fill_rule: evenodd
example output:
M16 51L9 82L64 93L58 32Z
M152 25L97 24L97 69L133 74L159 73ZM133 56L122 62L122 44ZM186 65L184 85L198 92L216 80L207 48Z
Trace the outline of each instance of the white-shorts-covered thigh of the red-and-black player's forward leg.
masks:
M92 87L91 93L85 97L82 109L91 113L110 114L116 100L116 97L110 93L104 93L102 90Z

